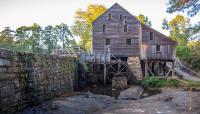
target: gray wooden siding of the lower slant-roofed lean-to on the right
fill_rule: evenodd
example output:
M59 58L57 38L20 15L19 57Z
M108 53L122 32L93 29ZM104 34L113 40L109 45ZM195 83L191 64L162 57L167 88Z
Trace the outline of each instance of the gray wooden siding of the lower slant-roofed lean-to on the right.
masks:
M153 32L153 40L150 40L150 32ZM160 52L156 52L156 45L160 45ZM174 60L175 47L175 41L146 25L142 25L141 59Z

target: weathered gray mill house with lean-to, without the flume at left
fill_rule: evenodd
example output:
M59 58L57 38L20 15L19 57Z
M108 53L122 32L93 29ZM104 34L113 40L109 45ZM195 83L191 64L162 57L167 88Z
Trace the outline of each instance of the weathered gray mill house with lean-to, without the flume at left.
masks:
M142 24L117 3L93 21L92 25L94 53L109 49L111 57L123 60L139 57L144 75L145 70L147 73L156 61L162 65L166 62L174 64L177 43Z

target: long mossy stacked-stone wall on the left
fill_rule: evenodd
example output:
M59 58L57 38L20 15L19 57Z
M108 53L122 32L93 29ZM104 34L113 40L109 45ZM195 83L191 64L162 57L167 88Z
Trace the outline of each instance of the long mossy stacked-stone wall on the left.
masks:
M73 89L77 59L0 50L0 114Z

